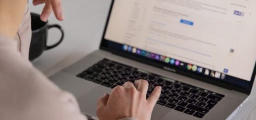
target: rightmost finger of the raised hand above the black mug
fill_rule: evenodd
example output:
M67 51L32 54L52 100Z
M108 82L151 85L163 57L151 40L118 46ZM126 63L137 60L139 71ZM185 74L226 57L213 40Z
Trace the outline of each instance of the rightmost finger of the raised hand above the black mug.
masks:
M63 15L63 9L62 9L62 1L61 0L50 0L53 12L56 16L56 18L60 21L64 20L64 15Z

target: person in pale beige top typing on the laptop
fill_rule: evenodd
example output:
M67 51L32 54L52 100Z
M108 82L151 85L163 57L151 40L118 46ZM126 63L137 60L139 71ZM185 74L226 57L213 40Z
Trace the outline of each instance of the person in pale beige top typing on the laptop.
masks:
M58 20L64 20L61 0L33 0L34 5L42 3L42 21L47 21L52 12ZM0 0L0 120L86 120L75 97L29 62L30 39L28 1ZM97 117L150 120L161 87L156 87L148 98L147 90L146 80L115 87L98 100Z

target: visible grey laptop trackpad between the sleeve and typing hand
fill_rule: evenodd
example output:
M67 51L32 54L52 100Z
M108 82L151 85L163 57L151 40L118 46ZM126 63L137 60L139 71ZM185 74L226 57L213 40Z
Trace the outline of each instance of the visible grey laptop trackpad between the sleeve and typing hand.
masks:
M78 99L80 109L83 113L96 117L97 102L105 93L110 94L111 89L98 86Z

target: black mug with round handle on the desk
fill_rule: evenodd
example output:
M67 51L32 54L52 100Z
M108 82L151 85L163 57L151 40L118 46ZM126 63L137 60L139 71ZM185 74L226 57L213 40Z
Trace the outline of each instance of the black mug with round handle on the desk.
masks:
M49 50L60 45L64 39L64 30L58 24L48 24L47 22L42 22L39 14L31 13L31 27L32 27L32 39L30 45L29 59L33 61L35 58L39 57L44 50ZM48 30L50 28L58 28L62 32L61 39L54 45L48 46Z

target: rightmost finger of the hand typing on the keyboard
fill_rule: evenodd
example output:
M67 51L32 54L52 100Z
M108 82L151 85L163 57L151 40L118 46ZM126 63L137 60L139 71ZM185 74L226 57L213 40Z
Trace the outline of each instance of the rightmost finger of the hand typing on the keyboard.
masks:
M161 95L161 87L158 86L154 89L154 91L152 92L152 94L148 97L148 102L155 106L155 104L157 103L159 97Z

